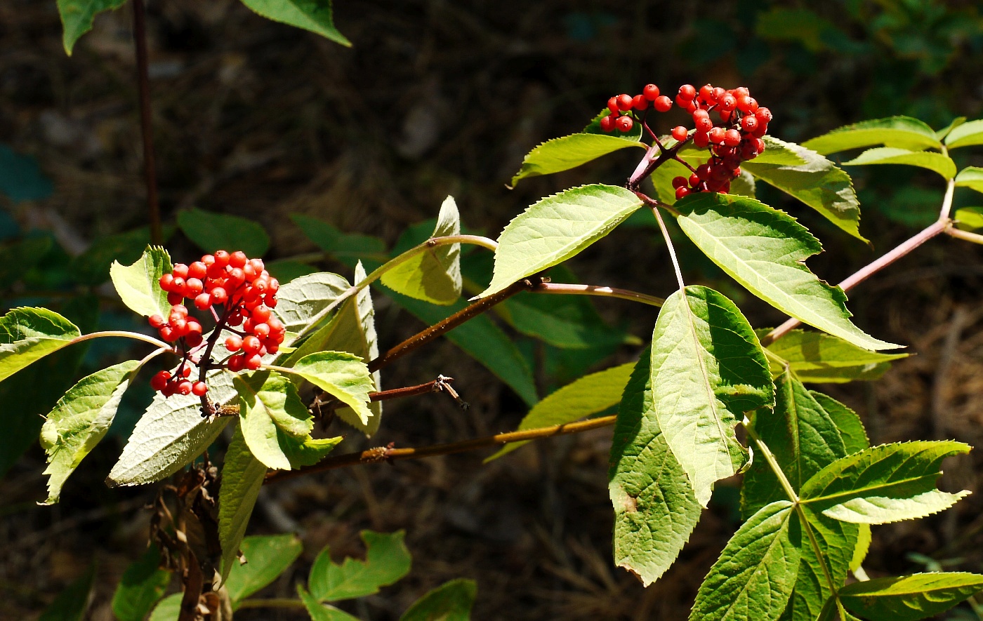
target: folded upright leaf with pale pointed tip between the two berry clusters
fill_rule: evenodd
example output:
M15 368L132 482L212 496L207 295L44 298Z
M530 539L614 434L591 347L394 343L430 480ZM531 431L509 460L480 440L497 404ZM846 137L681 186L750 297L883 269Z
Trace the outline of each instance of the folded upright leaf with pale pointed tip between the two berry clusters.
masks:
M440 205L434 234L447 237L461 234L461 218L454 198L447 197ZM382 274L382 284L404 296L446 306L461 297L461 245L430 248L425 242L423 252ZM413 252L413 251L411 251Z

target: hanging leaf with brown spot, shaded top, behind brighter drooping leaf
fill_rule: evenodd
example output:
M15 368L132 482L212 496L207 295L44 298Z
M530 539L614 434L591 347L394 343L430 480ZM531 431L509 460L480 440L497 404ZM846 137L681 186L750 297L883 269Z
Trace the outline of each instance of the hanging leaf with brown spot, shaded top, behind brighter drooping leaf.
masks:
M675 561L701 512L659 426L648 351L642 353L624 389L610 464L607 488L614 505L614 563L648 587Z

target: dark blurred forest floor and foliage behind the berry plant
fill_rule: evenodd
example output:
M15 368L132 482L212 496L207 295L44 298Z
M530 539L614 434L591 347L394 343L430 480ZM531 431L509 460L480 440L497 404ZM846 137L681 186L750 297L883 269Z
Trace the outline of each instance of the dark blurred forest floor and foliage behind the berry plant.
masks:
M85 330L145 329L105 287L111 260L132 261L148 238L131 20L129 7L98 16L69 58L54 0L0 4L5 307L51 306ZM649 82L665 90L747 85L775 112L772 133L786 141L896 114L935 129L983 115L983 8L972 0L338 0L335 23L353 47L267 22L233 0L149 2L157 171L177 260L200 254L201 242L183 230L192 230L196 209L259 222L268 234L265 258L285 278L312 269L350 277L358 258L378 261L426 237L427 220L447 195L457 199L466 229L495 237L538 198L592 181L623 183L633 162L615 153L515 190L505 186L533 146L579 131L608 96ZM682 119L672 114L678 111L661 131ZM983 165L973 149L959 149L954 159L960 167ZM933 221L944 190L928 171L848 172L861 199L861 233L876 250L759 189L759 198L788 209L822 239L827 252L810 265L831 282ZM956 206L974 201L971 191L956 193ZM674 279L665 248L649 220L630 224L555 270L554 279L667 295ZM689 280L743 304L756 326L781 321L683 240L680 253ZM479 251L464 257L472 293L487 282L489 259ZM983 343L974 327L983 319L981 259L975 247L936 241L851 296L861 327L919 354L877 384L831 387L861 413L875 442L932 435L983 442ZM627 303L560 309L553 301L549 308L513 302L455 342L481 352L495 331L498 364L514 363L514 370L521 360L519 375L540 397L588 369L633 360L655 319L653 310ZM382 347L420 329L414 316L443 316L434 309L376 295ZM563 323L544 333L543 316L587 321L591 338L563 331ZM512 344L501 342L503 331ZM100 445L60 508L33 505L43 493L43 455L36 444L29 449L38 415L74 377L129 355L122 347L98 341L0 384L0 473L7 473L0 480L0 616L41 609L94 553L104 561L98 584L109 585L96 595L93 618L103 618L98 606L145 536L138 509L153 491L101 483L121 444ZM457 378L473 405L467 414L436 397L394 403L371 443L349 434L346 447L482 435L514 427L528 408L528 391L523 399L495 377L500 368L462 357L453 344L394 366L383 381L396 387L438 372ZM143 385L128 394L114 424L120 442L149 399ZM353 541L357 550L362 528L406 528L416 569L394 591L358 603L352 610L364 618L390 618L460 576L478 581L476 618L681 618L736 524L735 488L721 485L714 518L701 522L665 579L642 590L609 560L605 433L550 440L485 468L465 456L299 481L264 497L254 528L300 530L308 548L330 543L341 552ZM954 487L976 488L974 459L947 467ZM964 553L981 549L974 497L914 527L875 530L868 571L916 569L904 560L907 551L979 571L983 555ZM287 579L280 587L292 589Z

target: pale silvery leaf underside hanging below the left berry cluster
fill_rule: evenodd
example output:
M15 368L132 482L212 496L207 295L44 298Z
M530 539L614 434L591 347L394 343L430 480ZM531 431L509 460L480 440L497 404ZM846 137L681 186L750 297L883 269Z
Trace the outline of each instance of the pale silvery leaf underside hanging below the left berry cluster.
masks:
M232 374L208 374L208 396L216 405L236 397ZM202 418L202 400L194 395L154 395L144 416L106 478L110 486L141 485L170 477L210 445L232 417Z

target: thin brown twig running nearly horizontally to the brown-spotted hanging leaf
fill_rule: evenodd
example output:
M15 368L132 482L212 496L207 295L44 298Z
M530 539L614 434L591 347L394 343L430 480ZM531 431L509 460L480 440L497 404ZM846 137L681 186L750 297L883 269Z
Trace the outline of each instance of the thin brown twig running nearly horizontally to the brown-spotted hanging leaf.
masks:
M434 457L436 455L463 453L480 448L508 444L509 442L538 440L540 438L550 437L553 435L565 435L567 433L581 433L590 429L597 429L599 427L613 424L615 419L617 419L617 416L612 415L599 419L590 419L589 421L582 421L580 423L554 424L548 427L524 429L522 431L510 431L508 433L498 433L495 435L464 440L461 442L434 444L433 446L424 446L421 448L389 448L386 446L379 446L358 453L347 453L345 455L328 457L314 466L302 468L300 470L274 471L268 473L266 475L266 480L263 482L271 483L279 480L294 479L303 475L321 473L328 470L334 470L336 468L346 468L348 466L378 464L381 462L401 459L422 459L425 457Z

